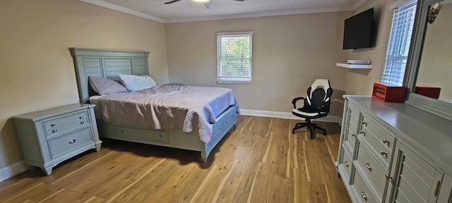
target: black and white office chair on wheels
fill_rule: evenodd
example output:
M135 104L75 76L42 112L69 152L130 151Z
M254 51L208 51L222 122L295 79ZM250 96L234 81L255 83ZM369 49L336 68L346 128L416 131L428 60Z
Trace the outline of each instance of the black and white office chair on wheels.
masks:
M295 125L292 129L292 133L295 133L295 130L299 128L308 127L309 133L311 133L311 139L314 139L315 129L321 130L323 135L326 135L326 130L314 123L311 123L311 119L321 118L328 115L328 112L330 112L330 100L331 94L333 94L333 89L331 89L329 80L317 79L311 87L308 88L307 92L308 95L306 98L297 97L292 100L292 104L294 104L292 114L304 118L306 121L304 123L297 123L297 125ZM300 99L304 100L304 106L297 109L295 104L297 104L297 101Z

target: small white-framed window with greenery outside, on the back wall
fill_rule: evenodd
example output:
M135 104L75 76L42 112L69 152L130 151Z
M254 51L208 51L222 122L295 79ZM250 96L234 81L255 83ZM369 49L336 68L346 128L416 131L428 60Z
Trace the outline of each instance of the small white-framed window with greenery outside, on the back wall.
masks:
M253 32L217 33L218 83L251 84Z

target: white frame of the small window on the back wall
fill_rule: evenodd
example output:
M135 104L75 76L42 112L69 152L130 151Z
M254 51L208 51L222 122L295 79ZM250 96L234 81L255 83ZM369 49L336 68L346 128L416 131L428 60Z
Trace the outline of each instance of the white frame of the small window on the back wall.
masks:
M253 59L253 31L246 32L218 32L217 33L217 83L218 84L251 84L252 59ZM233 60L246 60L249 64L248 76L240 77L242 79L232 79L233 76L222 75L222 61L226 60L222 57L222 39L223 37L249 37L249 56L242 58L234 58ZM232 58L231 58L232 59ZM231 60L228 59L228 60Z

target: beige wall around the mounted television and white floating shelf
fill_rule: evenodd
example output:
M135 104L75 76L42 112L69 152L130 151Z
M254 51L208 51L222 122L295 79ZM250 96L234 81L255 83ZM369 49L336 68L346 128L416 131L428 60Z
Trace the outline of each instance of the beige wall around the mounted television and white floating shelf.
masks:
M350 49L348 59L369 59L372 69L350 69L345 77L345 93L371 95L374 82L381 81L381 73L386 57L393 10L389 10L392 0L369 0L355 11L355 14L374 7L374 47Z

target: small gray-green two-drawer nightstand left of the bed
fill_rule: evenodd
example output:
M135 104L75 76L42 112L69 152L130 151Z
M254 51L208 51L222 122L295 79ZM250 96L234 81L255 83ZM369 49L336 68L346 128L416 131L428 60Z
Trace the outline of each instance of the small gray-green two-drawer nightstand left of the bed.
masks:
M93 104L69 104L14 116L24 162L52 168L89 149L100 150Z

